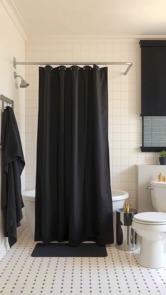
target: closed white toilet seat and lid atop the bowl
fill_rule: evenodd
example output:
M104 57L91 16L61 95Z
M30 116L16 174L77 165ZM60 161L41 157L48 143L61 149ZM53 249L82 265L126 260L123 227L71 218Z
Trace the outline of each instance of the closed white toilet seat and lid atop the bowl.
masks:
M166 213L163 212L143 212L135 214L133 221L141 224L162 225L166 224Z

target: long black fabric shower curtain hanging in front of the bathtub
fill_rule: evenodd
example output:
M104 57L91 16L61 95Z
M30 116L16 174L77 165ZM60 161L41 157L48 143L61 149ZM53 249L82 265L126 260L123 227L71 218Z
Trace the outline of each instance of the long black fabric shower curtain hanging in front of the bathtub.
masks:
M107 67L39 68L35 241L111 244Z

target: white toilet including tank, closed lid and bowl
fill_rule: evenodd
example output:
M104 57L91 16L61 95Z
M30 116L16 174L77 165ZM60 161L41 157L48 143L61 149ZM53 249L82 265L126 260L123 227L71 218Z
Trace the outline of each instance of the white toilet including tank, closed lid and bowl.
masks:
M151 180L154 210L135 214L131 227L142 237L138 263L147 268L166 266L166 183Z

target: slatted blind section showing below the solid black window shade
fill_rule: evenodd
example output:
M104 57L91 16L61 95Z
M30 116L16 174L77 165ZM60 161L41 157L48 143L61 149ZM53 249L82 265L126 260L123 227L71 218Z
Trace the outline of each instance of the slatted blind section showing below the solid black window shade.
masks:
M166 147L166 117L143 117L143 147Z

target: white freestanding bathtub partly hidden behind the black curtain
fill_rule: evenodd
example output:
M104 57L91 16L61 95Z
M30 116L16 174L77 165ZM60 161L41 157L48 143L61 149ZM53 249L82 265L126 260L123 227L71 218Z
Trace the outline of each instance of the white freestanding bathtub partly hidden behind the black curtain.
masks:
M116 210L124 207L125 199L128 199L126 191L112 189L113 200L113 225L114 225L114 239L116 238ZM35 235L35 190L23 191L22 199L25 205L25 214L27 217L29 228L34 238Z

